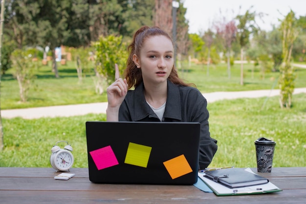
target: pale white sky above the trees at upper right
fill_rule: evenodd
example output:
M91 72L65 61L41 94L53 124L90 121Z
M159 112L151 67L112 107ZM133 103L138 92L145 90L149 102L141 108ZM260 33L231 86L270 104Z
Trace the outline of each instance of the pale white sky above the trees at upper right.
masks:
M279 25L278 19L283 20L290 9L297 18L306 16L306 0L185 0L183 5L187 8L185 18L189 20L189 33L197 34L212 28L214 20L220 20L220 10L222 16L230 20L253 6L251 11L267 14L262 18L264 22L256 19L265 31L272 30L271 24Z

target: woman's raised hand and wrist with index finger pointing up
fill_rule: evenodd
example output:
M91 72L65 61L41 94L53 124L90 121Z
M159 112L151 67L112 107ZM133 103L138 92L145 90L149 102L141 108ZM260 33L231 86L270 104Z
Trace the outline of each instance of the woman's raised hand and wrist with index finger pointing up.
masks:
M119 108L128 93L128 82L119 78L119 68L115 64L115 82L107 88L108 108L107 121L118 121Z

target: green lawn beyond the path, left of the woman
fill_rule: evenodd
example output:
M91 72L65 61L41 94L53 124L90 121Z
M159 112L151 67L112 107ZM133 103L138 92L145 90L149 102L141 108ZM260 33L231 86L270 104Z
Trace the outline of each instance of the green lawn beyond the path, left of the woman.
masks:
M20 102L19 86L10 72L2 76L1 108L15 109L50 105L66 105L107 101L106 93L95 93L93 80L87 75L80 84L76 69L70 62L67 66L59 65L60 78L56 79L50 67L42 67L37 79L30 87L27 102Z

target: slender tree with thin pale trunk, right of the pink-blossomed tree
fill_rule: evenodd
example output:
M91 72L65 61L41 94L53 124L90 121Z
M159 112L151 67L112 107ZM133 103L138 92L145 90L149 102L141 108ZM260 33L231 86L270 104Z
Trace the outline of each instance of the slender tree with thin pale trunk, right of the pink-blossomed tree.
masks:
M246 10L244 15L238 15L236 17L239 20L237 25L237 39L240 43L240 85L243 85L243 49L249 43L249 38L252 33L256 33L259 29L255 21L256 12L251 12L252 9Z

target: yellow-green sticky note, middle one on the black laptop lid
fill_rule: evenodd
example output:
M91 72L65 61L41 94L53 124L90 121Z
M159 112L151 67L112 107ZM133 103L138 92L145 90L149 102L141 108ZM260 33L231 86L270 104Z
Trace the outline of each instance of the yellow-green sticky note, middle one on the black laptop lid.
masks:
M142 144L129 143L124 163L147 168L152 147Z

